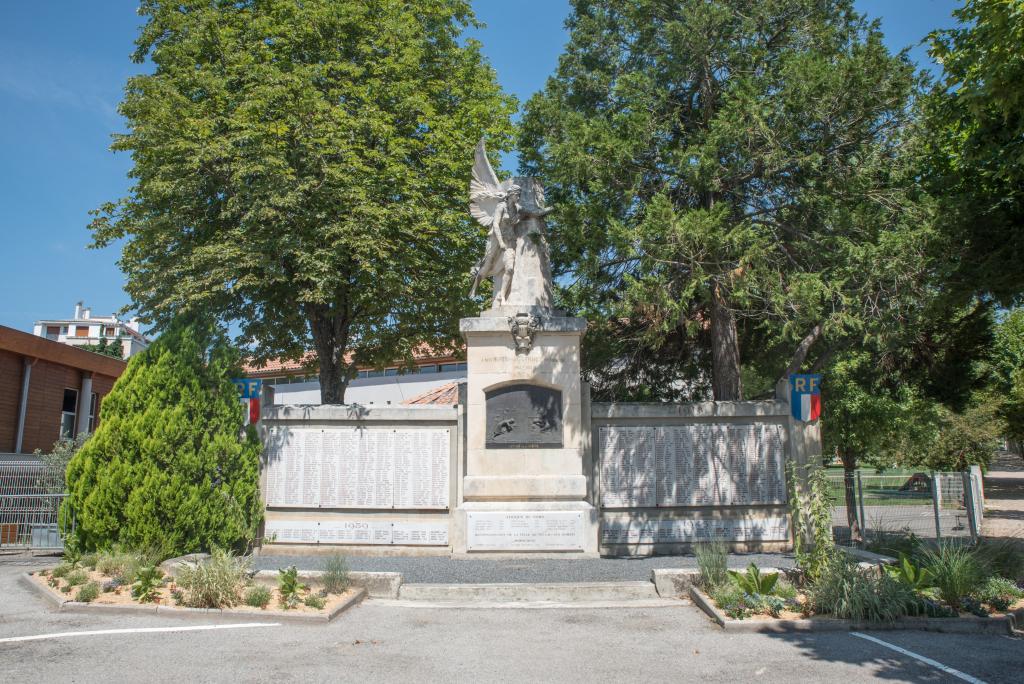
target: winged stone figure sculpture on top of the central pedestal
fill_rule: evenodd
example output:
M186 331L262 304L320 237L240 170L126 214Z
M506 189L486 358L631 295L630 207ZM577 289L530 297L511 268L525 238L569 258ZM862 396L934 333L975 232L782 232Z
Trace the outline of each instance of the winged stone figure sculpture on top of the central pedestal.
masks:
M527 183L527 202L522 202L523 187L515 181ZM490 230L486 251L471 271L473 287L470 296L476 295L476 289L483 279L494 277L493 306L496 308L510 303L548 304L551 275L543 219L551 213L551 209L544 207L544 188L532 178L499 181L487 160L482 139L476 145L473 160L473 178L469 182L469 212L480 225ZM534 241L529 241L534 249L525 249L526 236L537 236ZM521 287L514 289L513 284L517 277ZM541 282L536 283L537 280ZM536 292L538 287L539 293ZM512 295L515 290L521 290L521 294L530 301L510 301L514 299Z

